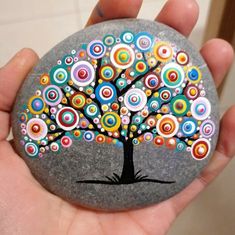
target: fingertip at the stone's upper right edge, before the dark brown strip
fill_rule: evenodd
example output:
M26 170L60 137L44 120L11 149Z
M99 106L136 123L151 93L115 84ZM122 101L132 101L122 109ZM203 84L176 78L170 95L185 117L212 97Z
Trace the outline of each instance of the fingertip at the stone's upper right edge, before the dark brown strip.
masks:
M222 39L212 39L203 45L201 54L207 62L216 87L219 87L233 62L232 46Z

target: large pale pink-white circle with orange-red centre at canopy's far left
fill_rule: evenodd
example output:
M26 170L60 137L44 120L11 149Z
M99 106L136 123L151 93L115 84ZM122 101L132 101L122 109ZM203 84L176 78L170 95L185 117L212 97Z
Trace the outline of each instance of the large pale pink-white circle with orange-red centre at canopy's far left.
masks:
M47 125L40 118L32 118L26 126L27 134L32 140L42 140L47 135Z

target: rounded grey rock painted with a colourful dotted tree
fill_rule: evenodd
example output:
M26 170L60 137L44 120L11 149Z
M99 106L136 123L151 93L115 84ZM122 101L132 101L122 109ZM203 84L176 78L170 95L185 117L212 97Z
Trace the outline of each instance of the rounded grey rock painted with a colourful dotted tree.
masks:
M219 128L205 61L145 20L88 27L32 70L13 111L15 148L49 191L101 210L140 208L184 189Z

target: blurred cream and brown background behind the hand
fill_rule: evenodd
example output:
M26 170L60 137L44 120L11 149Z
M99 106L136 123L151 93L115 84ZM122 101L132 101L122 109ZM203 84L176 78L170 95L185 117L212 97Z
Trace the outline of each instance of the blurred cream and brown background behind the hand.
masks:
M200 49L206 39L219 36L235 45L235 1L197 1L200 17L190 36L193 44ZM0 67L23 47L31 47L40 57L43 56L58 42L84 27L96 2L97 0L0 0ZM143 2L139 18L152 20L166 0ZM235 63L220 90L221 114L235 103L234 77ZM235 234L234 179L235 160L178 217L168 235Z

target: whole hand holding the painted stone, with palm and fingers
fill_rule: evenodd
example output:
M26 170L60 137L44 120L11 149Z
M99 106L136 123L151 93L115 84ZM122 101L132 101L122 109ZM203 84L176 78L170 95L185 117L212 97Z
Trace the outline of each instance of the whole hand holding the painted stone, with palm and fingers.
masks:
M113 18L136 17L141 0L100 0L88 25ZM128 7L126 7L128 6ZM177 9L177 10L176 10ZM157 21L188 36L198 18L195 0L169 0ZM208 41L201 49L217 87L233 59L231 46L223 40ZM220 56L217 56L220 54ZM16 93L38 61L23 49L0 69L0 231L2 235L163 235L177 215L223 170L235 154L235 107L221 120L219 142L207 168L184 191L145 209L105 213L71 205L47 192L31 175L24 161L6 140ZM218 66L219 65L219 66Z

